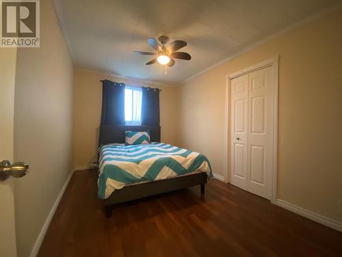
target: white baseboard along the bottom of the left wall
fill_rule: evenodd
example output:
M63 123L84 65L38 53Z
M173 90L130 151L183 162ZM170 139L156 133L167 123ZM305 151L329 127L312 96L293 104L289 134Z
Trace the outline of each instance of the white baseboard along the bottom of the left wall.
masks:
M73 173L74 173L73 171L70 172L70 175L66 179L66 182L64 183L64 186L62 187L62 190L60 191L60 194L57 196L55 204L53 204L49 215L47 215L47 219L45 220L44 225L42 226L42 230L40 230L36 243L34 243L34 247L32 248L31 254L29 255L30 257L37 256L40 246L42 245L42 241L44 240L44 236L47 233L47 229L49 228L49 225L51 223L51 219L53 218L53 215L55 215L55 211L57 210L57 207L60 204L62 196L64 195L64 191L66 190L66 187L68 186L70 182L70 178L73 175Z

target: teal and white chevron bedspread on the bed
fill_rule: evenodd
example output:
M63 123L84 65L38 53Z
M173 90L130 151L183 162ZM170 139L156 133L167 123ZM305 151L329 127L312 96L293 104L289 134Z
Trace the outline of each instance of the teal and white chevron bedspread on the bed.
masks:
M164 143L109 144L99 151L98 197L101 199L129 184L163 180L196 170L213 177L209 160L203 154Z

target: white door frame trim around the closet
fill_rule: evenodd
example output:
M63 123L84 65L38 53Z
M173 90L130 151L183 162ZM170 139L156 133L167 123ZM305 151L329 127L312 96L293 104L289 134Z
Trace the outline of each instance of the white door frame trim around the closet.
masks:
M276 204L277 199L277 175L278 175L278 67L279 56L274 56L258 64L254 64L235 73L226 75L226 97L224 103L224 168L226 175L224 182L228 183L231 180L231 80L235 77L240 77L252 71L257 71L269 66L274 67L274 156L273 156L273 169L272 169L272 195L271 202Z

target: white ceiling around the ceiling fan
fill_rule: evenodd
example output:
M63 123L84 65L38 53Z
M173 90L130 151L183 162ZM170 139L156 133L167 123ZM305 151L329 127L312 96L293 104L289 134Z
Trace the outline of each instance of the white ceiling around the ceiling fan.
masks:
M341 0L56 0L79 69L177 84ZM57 8L58 10L58 8ZM185 40L192 60L146 66L147 38Z

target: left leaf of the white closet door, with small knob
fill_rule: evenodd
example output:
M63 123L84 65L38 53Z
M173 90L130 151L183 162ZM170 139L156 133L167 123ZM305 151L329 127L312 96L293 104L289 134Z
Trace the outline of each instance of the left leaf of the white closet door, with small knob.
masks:
M231 86L231 184L247 190L248 75Z

